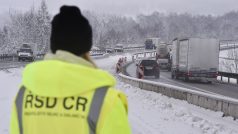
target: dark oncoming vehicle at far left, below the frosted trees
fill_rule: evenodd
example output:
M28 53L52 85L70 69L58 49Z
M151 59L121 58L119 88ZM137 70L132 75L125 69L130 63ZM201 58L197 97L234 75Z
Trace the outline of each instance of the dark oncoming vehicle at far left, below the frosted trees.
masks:
M23 44L17 51L18 61L34 61L34 53L29 44Z

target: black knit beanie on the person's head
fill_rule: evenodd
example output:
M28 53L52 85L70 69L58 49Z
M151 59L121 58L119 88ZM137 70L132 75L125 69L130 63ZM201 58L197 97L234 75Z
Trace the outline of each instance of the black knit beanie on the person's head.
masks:
M92 28L76 6L62 6L52 20L51 51L65 50L77 56L90 51Z

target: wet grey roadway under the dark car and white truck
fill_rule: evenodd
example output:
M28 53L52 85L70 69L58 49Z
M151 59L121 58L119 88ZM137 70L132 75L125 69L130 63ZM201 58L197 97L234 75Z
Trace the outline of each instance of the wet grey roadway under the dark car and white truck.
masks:
M130 64L126 71L130 76L136 77L136 65L134 63ZM212 84L208 84L197 81L185 82L183 80L173 80L171 79L170 72L165 70L161 70L160 79L155 79L154 77L145 77L145 79L238 99L238 85L235 84L221 82L213 82Z

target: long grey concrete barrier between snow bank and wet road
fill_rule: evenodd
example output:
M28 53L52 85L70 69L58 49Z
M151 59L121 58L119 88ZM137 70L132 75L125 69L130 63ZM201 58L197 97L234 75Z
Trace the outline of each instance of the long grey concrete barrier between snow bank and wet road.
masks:
M133 59L133 58L132 58ZM194 91L187 88L168 85L160 82L152 82L129 77L126 68L133 62L123 66L122 74L119 74L120 79L135 87L147 91L161 93L168 97L185 100L190 104L200 106L213 111L223 112L223 116L232 116L238 118L238 100L224 97L221 95L209 94L201 91Z

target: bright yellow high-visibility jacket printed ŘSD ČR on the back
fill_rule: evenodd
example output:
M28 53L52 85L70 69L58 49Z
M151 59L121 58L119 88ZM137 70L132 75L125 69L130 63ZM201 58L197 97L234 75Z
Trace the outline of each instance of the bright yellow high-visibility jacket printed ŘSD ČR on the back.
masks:
M58 60L29 64L11 134L129 134L125 95L105 71Z

